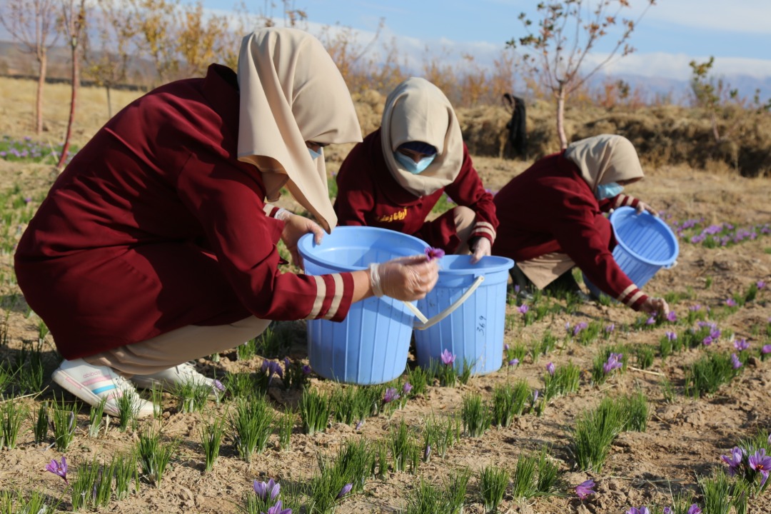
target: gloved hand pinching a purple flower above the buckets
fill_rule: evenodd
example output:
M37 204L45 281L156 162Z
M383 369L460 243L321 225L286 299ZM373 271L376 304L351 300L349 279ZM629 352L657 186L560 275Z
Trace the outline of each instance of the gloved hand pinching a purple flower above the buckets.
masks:
M439 280L439 263L425 255L399 257L369 265L369 284L375 296L396 300L420 300Z

